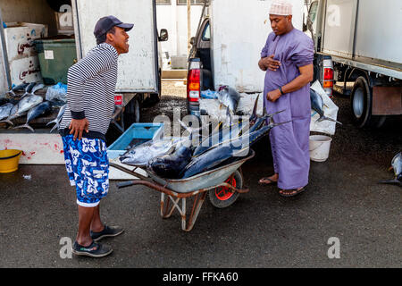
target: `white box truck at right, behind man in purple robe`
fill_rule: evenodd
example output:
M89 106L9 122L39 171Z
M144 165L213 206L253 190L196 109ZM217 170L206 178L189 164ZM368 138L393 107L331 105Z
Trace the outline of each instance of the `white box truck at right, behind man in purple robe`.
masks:
M402 114L402 1L314 0L305 19L316 74L330 93L350 95L357 127Z

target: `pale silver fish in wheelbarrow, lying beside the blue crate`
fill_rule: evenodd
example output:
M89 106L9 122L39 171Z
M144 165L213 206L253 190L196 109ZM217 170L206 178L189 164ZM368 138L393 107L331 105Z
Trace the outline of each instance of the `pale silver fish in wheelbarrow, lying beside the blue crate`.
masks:
M138 146L132 147L120 157L122 164L129 164L136 167L146 167L149 160L171 154L181 139L161 139L147 141Z

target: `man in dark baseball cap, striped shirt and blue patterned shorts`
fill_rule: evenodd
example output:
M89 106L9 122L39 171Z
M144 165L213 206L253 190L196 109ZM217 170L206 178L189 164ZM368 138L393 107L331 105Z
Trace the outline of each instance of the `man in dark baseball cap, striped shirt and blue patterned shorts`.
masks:
M109 246L96 241L123 230L102 223L99 203L109 189L105 135L114 109L117 59L129 52L133 24L106 16L96 22L96 46L68 71L67 107L60 124L64 159L71 186L77 192L79 230L72 252L105 257Z

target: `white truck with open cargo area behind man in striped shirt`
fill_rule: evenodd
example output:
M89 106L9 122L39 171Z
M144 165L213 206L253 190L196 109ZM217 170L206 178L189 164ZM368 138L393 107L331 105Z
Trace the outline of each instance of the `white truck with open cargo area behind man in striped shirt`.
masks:
M63 14L63 16L60 16ZM88 51L96 46L93 30L96 21L106 15L114 15L121 21L134 23L130 31L130 53L119 57L119 75L116 86L116 104L124 107L122 123L126 128L132 122L140 120L140 105L148 97L160 99L162 56L160 41L168 38L167 30L162 29L160 35L156 28L155 0L21 0L0 2L0 23L28 22L46 25L48 36L60 35L59 21L70 21L77 50L76 60L80 60ZM72 25L73 24L73 25ZM0 27L2 45L0 56L0 94L13 85L18 85L11 75L11 66L20 56L11 58L7 52L13 48L4 38L4 25ZM37 35L38 36L38 35ZM18 40L18 39L17 39ZM31 38L21 38L27 46ZM28 55L27 55L28 56ZM27 64L28 65L28 64ZM72 63L71 63L72 65ZM22 67L23 68L23 67ZM28 69L28 66L26 67ZM36 68L38 71L38 69ZM38 72L40 77L40 72ZM39 79L40 80L40 79ZM14 81L14 82L13 82ZM124 130L124 124L121 129ZM118 125L119 126L119 125Z

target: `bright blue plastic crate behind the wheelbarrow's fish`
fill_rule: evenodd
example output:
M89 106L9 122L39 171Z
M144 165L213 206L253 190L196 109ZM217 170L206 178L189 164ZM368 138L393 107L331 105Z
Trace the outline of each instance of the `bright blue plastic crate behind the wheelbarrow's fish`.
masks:
M163 123L133 123L119 139L115 140L111 146L107 148L107 156L109 159L115 159L123 155L126 148L134 139L137 144L147 142L151 139L163 138Z

